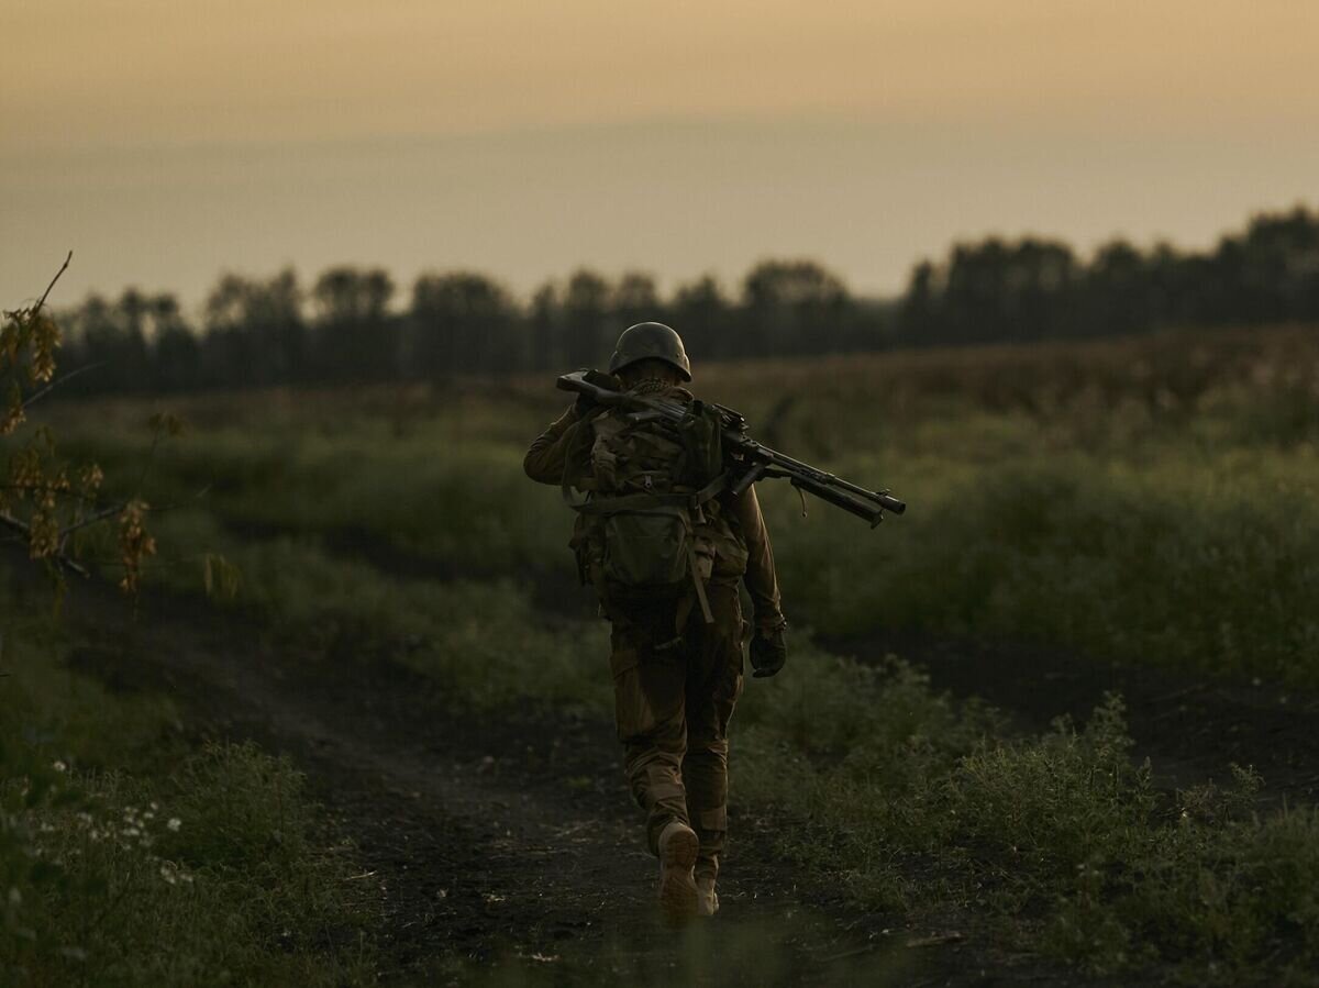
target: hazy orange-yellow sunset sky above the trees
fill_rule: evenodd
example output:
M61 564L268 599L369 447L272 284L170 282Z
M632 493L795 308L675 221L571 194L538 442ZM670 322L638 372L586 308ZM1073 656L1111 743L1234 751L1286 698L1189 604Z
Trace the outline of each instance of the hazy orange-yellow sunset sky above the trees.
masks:
M1211 244L1319 206L1312 0L0 0L0 305L226 270Z

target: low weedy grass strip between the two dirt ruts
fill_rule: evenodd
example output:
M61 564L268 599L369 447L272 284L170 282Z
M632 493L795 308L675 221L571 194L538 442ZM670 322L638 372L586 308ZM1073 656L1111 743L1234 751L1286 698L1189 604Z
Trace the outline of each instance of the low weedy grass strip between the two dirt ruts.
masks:
M347 636L435 677L464 707L532 698L609 716L603 625L546 627L513 584L392 579L307 537L228 551L245 587L231 605L256 608L303 648L331 652ZM1083 726L1016 737L900 660L869 658L799 641L789 675L748 689L735 795L786 814L785 853L859 906L911 921L973 910L1016 947L1097 972L1308 983L1319 960L1312 809L1258 815L1248 769L1224 766L1228 786L1155 789L1129 758L1117 698Z

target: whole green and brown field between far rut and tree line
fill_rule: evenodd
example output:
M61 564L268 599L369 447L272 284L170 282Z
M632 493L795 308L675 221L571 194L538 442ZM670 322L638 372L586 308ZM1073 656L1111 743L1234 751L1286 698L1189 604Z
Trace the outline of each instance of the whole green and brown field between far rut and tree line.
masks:
M1312 334L733 365L698 384L764 441L911 504L859 538L761 485L797 623L1319 686ZM348 533L422 571L571 572L558 495L520 468L561 401L546 381L342 401L200 401L193 441L160 459L157 503L204 491L231 532ZM99 419L116 408L140 418L129 404ZM127 464L142 445L95 451Z

